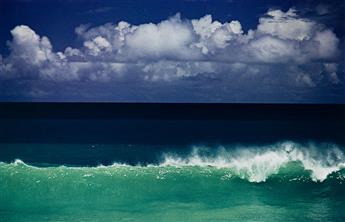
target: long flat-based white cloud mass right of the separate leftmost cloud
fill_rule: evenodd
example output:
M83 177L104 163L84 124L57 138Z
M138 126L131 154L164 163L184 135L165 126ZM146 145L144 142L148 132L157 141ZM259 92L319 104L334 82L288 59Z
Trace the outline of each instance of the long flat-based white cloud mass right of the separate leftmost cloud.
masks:
M86 56L123 62L306 63L332 60L339 42L332 30L299 17L293 9L269 10L257 29L247 32L236 20L221 23L211 15L183 20L177 14L158 24L82 25L76 33L85 40Z

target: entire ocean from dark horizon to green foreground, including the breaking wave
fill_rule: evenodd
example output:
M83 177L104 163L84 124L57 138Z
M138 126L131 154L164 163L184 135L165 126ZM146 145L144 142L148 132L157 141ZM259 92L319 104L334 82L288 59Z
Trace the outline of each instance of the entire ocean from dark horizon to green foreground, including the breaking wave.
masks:
M0 104L0 221L345 221L345 106Z

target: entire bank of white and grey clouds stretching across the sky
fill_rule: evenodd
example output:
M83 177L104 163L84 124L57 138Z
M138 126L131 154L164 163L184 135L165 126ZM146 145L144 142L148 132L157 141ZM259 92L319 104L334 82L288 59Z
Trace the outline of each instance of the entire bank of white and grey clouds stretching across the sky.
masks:
M256 29L247 31L237 20L222 23L211 15L187 20L176 14L158 24L81 25L75 33L81 48L55 52L47 37L25 25L15 27L8 43L10 54L0 57L0 78L110 81L130 76L172 81L204 74L241 78L283 75L275 73L279 65L281 70L299 69L286 74L288 82L314 87L322 78L303 67L316 64L329 82L341 81L336 63L339 39L294 9L269 10Z

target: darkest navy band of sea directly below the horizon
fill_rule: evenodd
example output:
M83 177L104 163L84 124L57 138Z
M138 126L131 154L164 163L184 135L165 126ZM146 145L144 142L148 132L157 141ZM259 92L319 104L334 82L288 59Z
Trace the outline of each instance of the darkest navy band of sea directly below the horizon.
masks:
M345 105L0 103L0 143L345 144Z

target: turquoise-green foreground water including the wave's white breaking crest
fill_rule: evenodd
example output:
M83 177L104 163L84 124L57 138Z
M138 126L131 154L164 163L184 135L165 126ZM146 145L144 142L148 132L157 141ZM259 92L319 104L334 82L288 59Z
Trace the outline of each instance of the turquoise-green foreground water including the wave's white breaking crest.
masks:
M98 167L0 163L0 221L345 221L341 149L164 155Z

